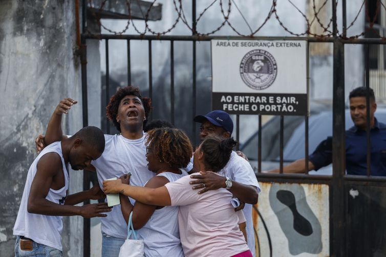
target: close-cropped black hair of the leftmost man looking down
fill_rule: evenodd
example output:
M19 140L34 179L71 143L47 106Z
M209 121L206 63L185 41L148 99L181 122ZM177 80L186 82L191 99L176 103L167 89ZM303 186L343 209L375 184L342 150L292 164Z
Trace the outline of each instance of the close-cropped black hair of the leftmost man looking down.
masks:
M72 137L79 137L82 142L91 148L96 149L99 153L103 153L104 151L104 134L103 131L97 127L84 127L76 132Z

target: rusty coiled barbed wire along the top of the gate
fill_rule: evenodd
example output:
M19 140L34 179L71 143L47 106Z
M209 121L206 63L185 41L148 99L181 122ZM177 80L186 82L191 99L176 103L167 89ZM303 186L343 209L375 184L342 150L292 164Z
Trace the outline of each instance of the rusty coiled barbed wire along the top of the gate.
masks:
M338 4L339 4L338 0L333 0L333 1L335 4L335 7L338 7ZM377 26L375 26L380 9L383 8L384 10L386 10L386 7L381 2L381 0L376 0L376 10L375 10L375 13L371 16L370 12L369 12L369 8L367 8L369 1L374 1L374 0L363 0L358 12L354 16L354 19L350 22L350 25L347 27L346 32L348 32L350 29L352 29L354 27L354 25L356 24L356 22L358 20L358 17L361 14L363 14L363 7L365 9L364 14L363 14L364 19L366 20L368 27L363 28L363 31L361 31L360 33L357 33L355 35L350 35L350 36L347 36L345 33L342 33L337 29L337 32L335 35L336 37L340 37L340 38L344 38L344 39L355 39L355 38L359 38L359 37L364 37L367 35L367 33L373 33L372 37L374 37L374 35L376 35L378 38L381 38L382 40L386 40L384 33L379 32L379 30L381 28L377 28ZM220 31L222 28L224 28L227 25L237 35L242 36L242 37L253 38L253 37L259 36L259 32L261 32L261 30L264 28L264 26L267 24L267 22L270 19L272 19L272 17L274 17L276 19L276 21L278 22L278 25L281 28L283 28L286 33L288 33L289 35L295 36L295 37L312 36L312 37L318 37L318 38L328 38L328 37L334 36L334 32L332 29L333 15L332 15L332 11L330 11L328 9L328 5L327 5L327 3L330 2L329 0L323 1L323 3L321 3L319 5L319 7L316 6L316 4L315 4L316 1L312 0L312 3L310 3L311 10L308 12L308 15L306 15L301 10L301 8L296 6L291 0L287 0L287 4L289 4L290 6L292 6L296 10L296 12L292 12L291 15L294 15L294 13L298 13L305 20L305 22L304 22L305 30L300 31L300 32L295 32L293 30L293 28L289 27L289 25L285 25L283 18L288 18L288 17L283 17L283 15L281 17L280 14L278 13L277 0L272 0L271 7L269 8L269 11L268 11L266 17L264 18L262 24L260 24L258 26L258 28L256 28L255 30L252 30L251 26L249 25L248 20L245 18L244 13L235 4L234 0L213 0L208 6L206 6L203 9L203 11L198 15L198 17L196 18L195 21L191 21L191 20L187 19L187 15L185 14L182 0L173 0L173 7L174 7L175 14L176 14L176 19L173 21L173 24L168 29L165 29L163 31L155 31L151 28L151 26L149 26L149 21L152 21L152 20L149 20L149 16L151 15L152 8L154 8L156 3L158 2L157 0L153 0L151 2L151 4L149 5L149 7L147 8L146 12L143 12L142 8L139 8L141 15L142 15L142 18L143 18L143 22L144 22L144 30L140 31L140 29L135 25L135 22L134 22L135 17L132 16L132 5L137 4L138 7L140 7L140 3L138 0L134 0L134 1L133 0L125 0L126 7L127 7L127 13L128 13L127 14L127 23L126 23L123 30L114 31L113 29L107 28L105 25L103 25L103 22L101 21L102 12L105 8L106 2L108 2L108 0L101 1L100 6L95 8L94 4L93 4L93 0L88 0L88 5L90 8L91 14L95 18L95 20L97 21L98 25L101 26L106 31L113 33L113 34L116 34L116 35L121 35L121 34L127 32L128 29L132 27L134 29L134 31L136 33L138 33L140 36L144 36L146 33L153 34L156 36L161 36L161 35L166 35L166 34L170 33L171 31L173 31L176 28L176 26L179 23L182 23L185 25L187 30L191 31L192 35L196 35L198 37L214 35L216 32ZM310 2L311 2L311 0L310 0ZM212 8L213 6L215 6L215 4L219 5L223 20L220 20L219 25L217 27L215 27L215 29L212 29L209 32L199 31L197 29L198 22L202 20L202 18L208 13L208 10L210 8ZM230 20L230 14L231 13L233 14L233 7L235 7L234 8L235 11L234 11L234 16L232 16L232 18L234 18L234 17L237 18L239 15L242 19L244 19L246 25L248 26L250 34L242 33L240 29L238 30L233 25L233 21ZM335 10L336 9L337 8L335 8ZM327 15L328 13L330 13L331 17L328 17L328 15ZM322 17L322 14L323 14L323 17ZM335 16L338 16L338 15L335 15ZM315 21L317 22L317 25L315 25ZM298 26L296 29L297 30L299 29ZM90 31L87 31L87 33L93 34Z

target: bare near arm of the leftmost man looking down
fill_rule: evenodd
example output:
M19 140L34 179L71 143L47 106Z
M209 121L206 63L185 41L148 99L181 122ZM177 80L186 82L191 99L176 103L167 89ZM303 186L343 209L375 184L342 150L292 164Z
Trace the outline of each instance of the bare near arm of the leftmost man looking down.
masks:
M58 154L47 153L40 158L28 197L27 211L29 213L51 216L80 215L84 218L106 217L102 213L111 211L106 203L73 206L61 205L47 200L46 197L51 187L56 189L56 187L64 186L64 184L54 183L54 177L58 176L59 172L63 171L61 158Z

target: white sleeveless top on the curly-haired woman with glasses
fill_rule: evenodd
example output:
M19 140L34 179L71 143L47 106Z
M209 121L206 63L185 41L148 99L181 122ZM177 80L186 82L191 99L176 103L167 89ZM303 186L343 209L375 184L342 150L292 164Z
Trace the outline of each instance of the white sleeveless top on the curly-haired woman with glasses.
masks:
M184 170L180 171L182 174L163 172L157 176L163 176L173 182L188 175ZM145 256L184 256L178 228L179 209L179 206L156 209L147 223L138 229L137 236L144 241Z

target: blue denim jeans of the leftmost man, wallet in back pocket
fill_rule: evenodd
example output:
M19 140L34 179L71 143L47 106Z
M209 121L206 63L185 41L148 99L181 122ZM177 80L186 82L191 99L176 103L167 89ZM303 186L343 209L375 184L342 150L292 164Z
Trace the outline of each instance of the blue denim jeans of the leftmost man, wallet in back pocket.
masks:
M20 236L17 236L15 243L15 257L35 256L35 257L62 257L63 254L58 249L47 245L38 244L32 241L32 250L20 249Z

